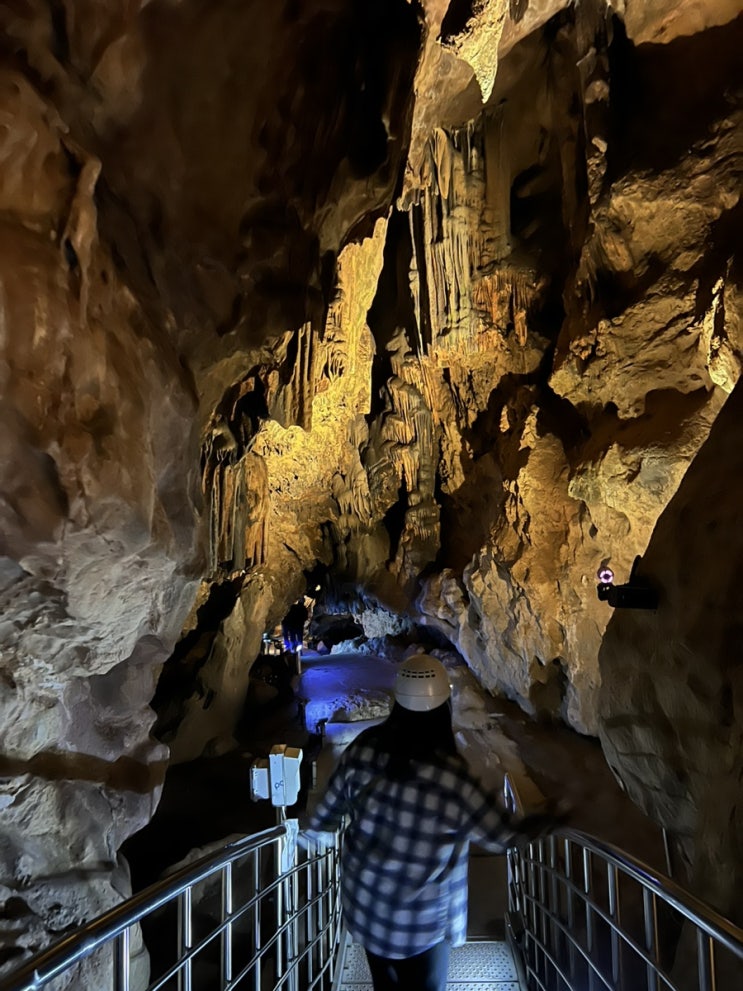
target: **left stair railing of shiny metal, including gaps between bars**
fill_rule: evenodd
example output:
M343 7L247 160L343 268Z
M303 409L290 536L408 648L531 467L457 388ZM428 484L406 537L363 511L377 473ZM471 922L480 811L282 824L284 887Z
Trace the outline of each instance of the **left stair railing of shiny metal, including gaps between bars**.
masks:
M36 954L0 991L330 991L339 850L296 820L228 843Z

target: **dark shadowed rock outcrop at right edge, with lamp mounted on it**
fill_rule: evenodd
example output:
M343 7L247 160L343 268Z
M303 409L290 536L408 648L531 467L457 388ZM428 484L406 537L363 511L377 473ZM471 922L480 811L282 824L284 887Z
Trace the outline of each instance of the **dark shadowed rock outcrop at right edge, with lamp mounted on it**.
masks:
M618 611L600 651L609 764L675 838L696 890L738 925L742 414L738 386L658 520L639 569L657 611Z

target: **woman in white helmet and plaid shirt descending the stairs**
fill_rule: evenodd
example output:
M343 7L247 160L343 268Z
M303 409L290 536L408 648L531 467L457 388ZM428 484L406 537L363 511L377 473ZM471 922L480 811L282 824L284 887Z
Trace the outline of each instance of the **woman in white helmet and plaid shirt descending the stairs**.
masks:
M449 951L467 937L470 840L502 853L555 822L514 822L458 753L446 669L406 660L387 720L344 751L310 831L344 817L341 897L346 927L366 951L375 991L443 991Z

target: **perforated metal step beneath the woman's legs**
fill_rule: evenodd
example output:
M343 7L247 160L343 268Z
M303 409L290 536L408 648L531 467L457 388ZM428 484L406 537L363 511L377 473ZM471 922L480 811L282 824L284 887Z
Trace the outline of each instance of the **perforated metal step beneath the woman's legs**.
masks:
M516 967L506 943L466 943L452 950L448 991L519 991ZM372 991L363 949L348 943L338 991Z

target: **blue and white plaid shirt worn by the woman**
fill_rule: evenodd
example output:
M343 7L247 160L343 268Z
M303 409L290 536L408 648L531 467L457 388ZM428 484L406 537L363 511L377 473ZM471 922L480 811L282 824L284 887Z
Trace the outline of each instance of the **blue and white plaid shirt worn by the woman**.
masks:
M414 761L409 780L384 775L388 755L362 738L343 753L310 829L333 831L350 817L343 841L345 924L381 957L414 956L467 938L470 840L502 853L514 837L507 813L462 757Z

